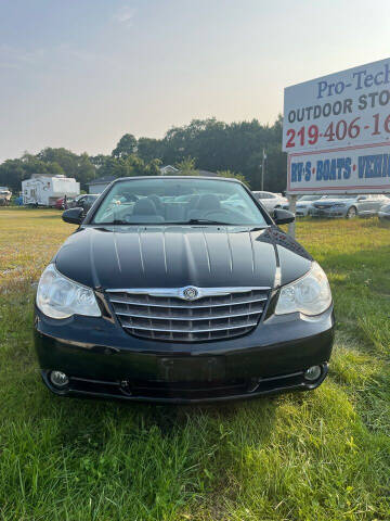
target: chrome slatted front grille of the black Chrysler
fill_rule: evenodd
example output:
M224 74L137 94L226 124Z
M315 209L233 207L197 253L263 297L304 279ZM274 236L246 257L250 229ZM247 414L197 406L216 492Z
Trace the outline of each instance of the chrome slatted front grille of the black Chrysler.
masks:
M270 292L269 288L198 288L199 296L188 301L182 290L107 290L107 295L128 333L161 341L200 342L251 331Z

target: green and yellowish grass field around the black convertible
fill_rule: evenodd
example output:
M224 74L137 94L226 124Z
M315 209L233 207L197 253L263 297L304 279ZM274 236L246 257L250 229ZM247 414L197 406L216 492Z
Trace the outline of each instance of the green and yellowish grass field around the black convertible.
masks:
M334 292L329 378L204 407L43 387L34 282L73 229L54 211L0 209L1 520L390 520L390 228L298 223Z

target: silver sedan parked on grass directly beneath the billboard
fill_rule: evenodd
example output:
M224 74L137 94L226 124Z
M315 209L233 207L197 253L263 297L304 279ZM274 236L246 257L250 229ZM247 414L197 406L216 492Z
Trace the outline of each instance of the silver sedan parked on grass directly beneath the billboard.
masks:
M358 215L369 217L377 215L379 208L388 201L386 195L325 195L313 203L313 217L346 217L352 219Z

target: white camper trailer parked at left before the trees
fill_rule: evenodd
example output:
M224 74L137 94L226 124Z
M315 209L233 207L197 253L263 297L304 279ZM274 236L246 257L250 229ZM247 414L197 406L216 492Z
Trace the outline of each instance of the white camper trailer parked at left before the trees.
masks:
M34 176L22 181L23 204L35 206L54 206L55 201L66 195L76 198L80 194L80 183L73 177Z

